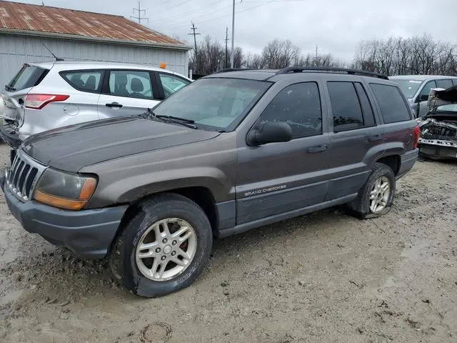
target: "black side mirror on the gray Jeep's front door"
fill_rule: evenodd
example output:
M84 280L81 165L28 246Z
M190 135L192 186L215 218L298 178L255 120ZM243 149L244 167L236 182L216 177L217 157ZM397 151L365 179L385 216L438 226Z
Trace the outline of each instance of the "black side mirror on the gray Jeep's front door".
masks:
M289 124L278 121L267 121L258 129L249 131L246 141L248 145L255 146L292 139L292 128Z

